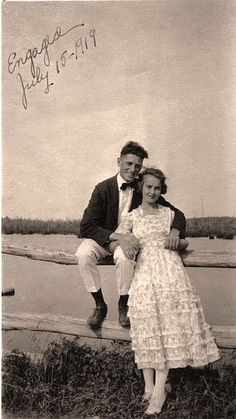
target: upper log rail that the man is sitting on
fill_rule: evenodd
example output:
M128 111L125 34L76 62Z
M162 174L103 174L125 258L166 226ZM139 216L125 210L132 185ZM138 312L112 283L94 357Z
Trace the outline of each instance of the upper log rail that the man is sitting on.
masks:
M54 262L62 265L76 265L75 255L71 252L57 249L45 249L26 245L4 244L2 253L14 256L27 257L34 260ZM205 268L236 268L236 250L187 250L181 254L186 267ZM113 265L112 257L99 262L100 265Z

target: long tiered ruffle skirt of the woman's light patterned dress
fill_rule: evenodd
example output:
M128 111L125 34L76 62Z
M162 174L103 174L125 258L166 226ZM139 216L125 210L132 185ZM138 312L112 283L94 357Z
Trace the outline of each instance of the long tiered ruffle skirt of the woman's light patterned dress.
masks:
M141 253L128 315L138 368L199 367L219 359L200 299L173 251Z

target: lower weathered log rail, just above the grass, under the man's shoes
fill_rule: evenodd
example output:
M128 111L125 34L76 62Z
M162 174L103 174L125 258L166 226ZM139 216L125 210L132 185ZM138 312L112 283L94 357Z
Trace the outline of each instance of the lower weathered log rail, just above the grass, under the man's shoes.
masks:
M89 338L131 341L129 330L117 322L105 320L98 331L92 331L86 320L51 314L11 313L2 315L2 329L62 333ZM221 348L236 348L236 326L212 326L216 343Z

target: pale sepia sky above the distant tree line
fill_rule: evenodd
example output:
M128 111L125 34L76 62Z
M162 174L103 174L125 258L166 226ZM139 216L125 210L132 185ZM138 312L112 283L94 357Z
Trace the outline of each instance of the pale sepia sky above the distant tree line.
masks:
M2 22L4 216L81 218L129 140L186 217L236 216L235 1L4 2Z

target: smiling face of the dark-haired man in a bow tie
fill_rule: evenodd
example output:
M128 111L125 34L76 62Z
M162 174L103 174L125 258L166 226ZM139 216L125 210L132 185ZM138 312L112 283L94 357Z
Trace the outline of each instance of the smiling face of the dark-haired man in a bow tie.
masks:
M132 182L142 168L143 159L135 154L126 154L119 157L117 162L122 179L126 182Z

